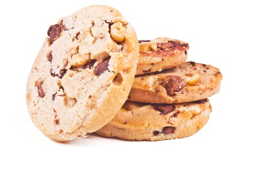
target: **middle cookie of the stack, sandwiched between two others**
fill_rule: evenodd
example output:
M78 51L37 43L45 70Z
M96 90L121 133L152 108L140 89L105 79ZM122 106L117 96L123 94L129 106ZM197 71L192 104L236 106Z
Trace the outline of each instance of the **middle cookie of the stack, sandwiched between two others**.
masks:
M216 94L221 79L218 68L187 62L162 72L136 76L128 100L149 103L197 101Z

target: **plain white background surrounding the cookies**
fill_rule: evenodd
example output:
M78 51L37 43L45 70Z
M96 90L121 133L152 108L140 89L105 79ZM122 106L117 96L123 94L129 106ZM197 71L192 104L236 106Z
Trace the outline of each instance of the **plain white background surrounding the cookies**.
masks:
M253 2L253 1L252 1ZM256 169L256 5L194 0L2 0L0 2L0 169ZM191 137L158 142L91 135L54 142L31 122L27 76L48 27L92 4L122 12L138 39L188 42L188 61L223 74L207 125Z

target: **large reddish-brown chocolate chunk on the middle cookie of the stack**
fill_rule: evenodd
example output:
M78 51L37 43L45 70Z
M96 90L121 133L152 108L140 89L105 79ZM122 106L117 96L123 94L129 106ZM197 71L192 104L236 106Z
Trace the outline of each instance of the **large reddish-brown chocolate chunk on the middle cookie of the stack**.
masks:
M187 85L183 78L178 76L166 76L169 81L164 85L167 94L170 96L175 96L175 91L180 91L182 88Z

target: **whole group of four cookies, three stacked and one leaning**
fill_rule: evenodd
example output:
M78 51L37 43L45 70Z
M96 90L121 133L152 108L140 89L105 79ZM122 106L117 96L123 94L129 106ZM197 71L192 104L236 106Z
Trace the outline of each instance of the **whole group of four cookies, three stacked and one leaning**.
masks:
M45 136L162 140L190 136L207 122L206 98L222 76L185 63L187 43L138 41L119 11L101 5L61 18L47 34L26 89L30 117Z

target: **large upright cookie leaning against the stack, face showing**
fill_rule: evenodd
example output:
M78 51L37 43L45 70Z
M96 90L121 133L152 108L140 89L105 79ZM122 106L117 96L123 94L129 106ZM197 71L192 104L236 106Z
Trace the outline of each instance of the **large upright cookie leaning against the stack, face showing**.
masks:
M30 117L53 140L84 138L126 101L139 55L136 34L107 6L61 18L47 34L27 81Z

